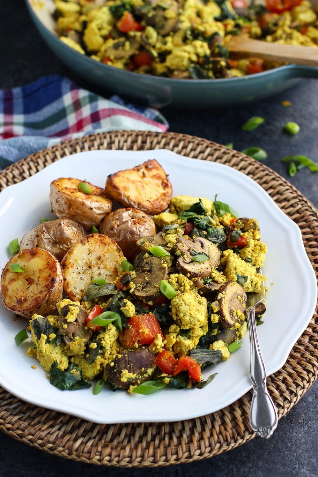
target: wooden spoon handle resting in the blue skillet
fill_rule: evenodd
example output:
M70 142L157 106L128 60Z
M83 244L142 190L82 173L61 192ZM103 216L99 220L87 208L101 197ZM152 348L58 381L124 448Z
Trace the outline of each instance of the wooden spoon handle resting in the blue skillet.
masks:
M233 36L227 45L229 52L263 58L281 63L297 63L318 66L318 48L298 45L282 45L269 41L251 40L245 36Z

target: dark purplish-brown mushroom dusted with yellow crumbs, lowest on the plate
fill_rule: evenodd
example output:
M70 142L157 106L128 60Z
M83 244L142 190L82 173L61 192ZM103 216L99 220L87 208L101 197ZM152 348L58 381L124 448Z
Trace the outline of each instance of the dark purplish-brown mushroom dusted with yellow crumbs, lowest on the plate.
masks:
M105 377L113 386L124 390L131 385L144 383L153 374L149 374L148 370L155 370L155 357L147 348L123 351L112 360L112 365L106 364Z

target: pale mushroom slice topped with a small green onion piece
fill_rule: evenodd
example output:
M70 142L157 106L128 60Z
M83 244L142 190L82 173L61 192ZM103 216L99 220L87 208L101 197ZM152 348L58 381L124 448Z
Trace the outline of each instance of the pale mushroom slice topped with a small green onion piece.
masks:
M202 237L197 237L193 241L179 237L175 248L181 252L176 264L177 270L189 278L208 277L221 257L220 250L216 245ZM209 259L204 262L195 261L193 258L198 253L205 253Z

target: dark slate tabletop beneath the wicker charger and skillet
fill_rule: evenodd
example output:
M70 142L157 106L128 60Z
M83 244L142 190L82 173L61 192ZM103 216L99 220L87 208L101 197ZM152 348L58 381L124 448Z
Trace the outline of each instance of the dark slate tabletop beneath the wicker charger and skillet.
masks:
M28 83L43 74L62 74L84 87L92 85L75 78L41 41L29 19L22 0L1 2L0 88ZM103 93L98 91L99 93ZM107 93L103 93L107 95ZM290 107L281 101L289 100ZM237 150L251 145L268 153L266 164L288 178L281 157L300 154L318 162L318 82L304 80L293 90L259 104L234 106L223 111L180 112L165 108L170 131L205 137L228 143ZM266 123L256 131L243 133L240 126L252 115L263 116ZM300 124L295 136L283 132L287 121ZM290 182L318 206L318 175L302 170ZM3 363L2 363L3 364ZM74 398L76 396L74 395ZM0 477L13 475L102 476L236 476L236 477L317 477L318 476L318 384L314 384L301 401L284 417L269 441L254 439L233 451L212 459L181 466L158 469L106 469L50 456L0 433ZM106 404L106 403L105 403Z

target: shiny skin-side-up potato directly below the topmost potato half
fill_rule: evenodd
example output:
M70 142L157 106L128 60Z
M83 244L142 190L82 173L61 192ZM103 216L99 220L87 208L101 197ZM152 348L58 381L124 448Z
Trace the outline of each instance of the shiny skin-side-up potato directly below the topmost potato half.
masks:
M100 233L115 240L124 256L133 259L139 250L137 240L153 237L156 234L156 226L153 219L142 210L133 207L120 208L103 219Z

